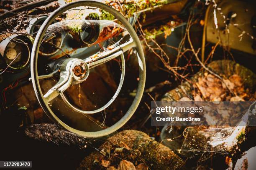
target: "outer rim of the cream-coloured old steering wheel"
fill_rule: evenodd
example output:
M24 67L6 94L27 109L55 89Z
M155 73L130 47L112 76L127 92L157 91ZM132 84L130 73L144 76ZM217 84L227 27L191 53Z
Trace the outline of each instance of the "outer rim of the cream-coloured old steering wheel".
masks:
M138 54L139 81L138 81L137 93L136 93L136 96L135 96L131 106L129 107L129 109L125 113L125 115L120 120L118 120L118 122L116 122L114 125L106 128L106 129L103 129L100 131L95 131L95 132L85 132L85 131L77 130L77 129L74 129L74 128L70 127L69 125L65 124L64 122L62 122L59 119L59 117L57 117L54 114L54 112L51 110L48 103L45 102L45 99L44 99L44 96L43 96L43 93L41 91L41 87L39 84L39 79L38 79L38 50L39 50L39 46L40 46L40 43L38 43L38 42L41 42L47 28L55 20L55 18L57 16L66 12L67 10L70 10L74 7L79 7L79 6L97 7L97 8L100 8L102 10L109 12L115 18L117 18L124 25L126 30L129 32L130 36L133 38L133 41L136 44L135 48L136 48L136 51ZM60 124L63 128L65 128L66 130L68 130L72 133L76 133L78 135L82 135L82 136L88 137L88 138L98 138L98 137L102 137L105 135L109 135L109 134L115 132L116 130L118 130L119 128L121 128L131 118L133 113L136 111L136 109L141 101L141 98L143 95L143 90L145 87L146 63L145 63L145 58L144 58L144 53L143 53L143 48L141 46L141 42L140 42L138 36L136 35L135 30L133 29L131 24L128 22L128 20L125 19L125 17L123 15L121 15L114 8L112 8L106 4L103 4L102 2L92 1L92 0L80 0L80 1L71 2L71 3L64 5L63 7L57 9L56 11L54 11L54 13L52 13L49 16L49 18L47 18L44 21L43 25L38 30L38 34L36 35L36 38L34 40L32 52L31 52L31 78L32 78L32 84L33 84L33 88L36 93L38 102L40 103L40 105L41 105L42 109L44 110L44 112L46 113L46 115L48 115L51 120Z

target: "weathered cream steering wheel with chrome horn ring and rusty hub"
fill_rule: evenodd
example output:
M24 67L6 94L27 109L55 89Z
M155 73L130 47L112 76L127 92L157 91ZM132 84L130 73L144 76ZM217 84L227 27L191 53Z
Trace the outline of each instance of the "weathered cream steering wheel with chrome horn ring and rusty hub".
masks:
M39 84L39 80L51 77L57 71L55 70L49 75L38 76L38 53L39 53L38 51L39 51L41 42L43 41L44 35L46 34L47 28L49 28L49 25L51 25L51 23L53 23L58 16L65 13L67 10L70 10L76 7L82 7L82 6L96 7L101 10L105 10L106 12L113 15L125 27L126 31L130 35L130 39L128 40L128 42L115 46L111 50L102 52L101 55L97 57L95 57L95 55L97 55L95 54L95 55L92 55L91 57L87 57L84 59L79 59L79 58L64 59L64 61L61 62L60 67L58 69L58 71L60 72L59 81L56 83L56 85L54 85L54 87L51 87L51 89L48 92L46 92L46 94L43 94ZM123 53L132 48L136 50L136 55L138 57L138 65L139 65L138 87L137 87L137 92L131 106L129 107L125 115L123 115L123 117L118 122L116 122L114 125L103 130L99 130L95 132L85 132L85 131L70 127L64 121L62 121L58 116L56 116L56 114L54 114L54 112L49 107L49 102L59 95L69 107L71 107L73 110L76 110L81 114L94 114L96 112L100 112L105 108L107 108L116 99L123 85L124 72L125 72L125 57ZM45 20L43 25L41 25L36 35L36 38L34 40L33 49L31 53L32 53L31 54L31 79L32 79L33 88L36 93L38 102L40 103L46 115L48 115L51 118L51 120L54 120L56 123L58 123L59 125L64 127L66 130L69 130L72 133L76 133L78 135L82 135L88 138L98 138L105 135L109 135L115 132L116 130L118 130L119 128L121 128L131 118L131 116L136 111L141 101L141 97L143 95L143 90L144 90L145 81L146 81L146 64L145 64L145 58L144 58L141 42L138 36L136 35L135 30L133 29L131 24L128 22L128 20L126 20L125 17L121 15L117 10L115 10L114 8L106 4L103 4L97 1L92 1L92 0L80 0L80 1L68 3L63 7L60 7ZM103 107L97 110L92 110L92 111L80 110L77 107L73 106L65 97L63 92L67 90L67 88L70 85L84 82L87 79L87 77L90 76L90 69L92 67L97 67L98 65L108 62L118 56L121 57L121 61L122 61L122 64L121 64L122 73L121 73L121 78L120 78L120 83L118 85L118 88L115 94L113 95L113 97L111 98L111 100L107 104L105 104Z

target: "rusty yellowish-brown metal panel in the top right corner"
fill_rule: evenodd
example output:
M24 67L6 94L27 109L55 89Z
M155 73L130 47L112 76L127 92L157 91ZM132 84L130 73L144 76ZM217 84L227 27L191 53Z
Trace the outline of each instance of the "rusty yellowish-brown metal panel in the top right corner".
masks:
M253 5L238 0L223 0L218 7L222 9L223 14L216 12L216 19L214 19L214 8L209 6L207 41L214 44L220 41L227 48L256 55L256 50L253 49L255 39L251 37L253 36L253 23L251 22L253 22L253 16L256 15ZM223 18L223 15L227 17L233 15L234 17L229 19L230 23L228 24L224 22L226 19ZM218 30L214 20L218 22ZM228 32L225 30L226 24L228 24Z

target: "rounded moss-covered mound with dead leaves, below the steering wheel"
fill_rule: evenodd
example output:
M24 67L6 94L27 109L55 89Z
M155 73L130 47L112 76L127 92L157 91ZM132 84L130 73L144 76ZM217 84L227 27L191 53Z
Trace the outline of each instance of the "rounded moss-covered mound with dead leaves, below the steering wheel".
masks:
M124 130L110 137L101 147L85 157L78 169L105 169L102 161L117 168L121 160L134 165L144 163L151 169L177 170L183 161L169 148L136 130Z

